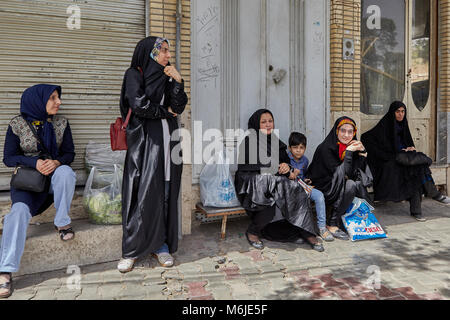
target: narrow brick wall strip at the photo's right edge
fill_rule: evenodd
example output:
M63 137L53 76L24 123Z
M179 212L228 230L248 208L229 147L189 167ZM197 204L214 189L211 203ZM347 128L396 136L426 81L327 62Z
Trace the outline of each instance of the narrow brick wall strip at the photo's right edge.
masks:
M450 0L439 0L440 109L450 112Z

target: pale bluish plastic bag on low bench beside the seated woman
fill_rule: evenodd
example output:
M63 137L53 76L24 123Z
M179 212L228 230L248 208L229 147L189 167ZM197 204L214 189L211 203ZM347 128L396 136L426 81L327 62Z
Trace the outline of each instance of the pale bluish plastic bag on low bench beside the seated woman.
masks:
M237 207L240 202L230 173L229 160L217 152L200 173L200 198L207 207Z

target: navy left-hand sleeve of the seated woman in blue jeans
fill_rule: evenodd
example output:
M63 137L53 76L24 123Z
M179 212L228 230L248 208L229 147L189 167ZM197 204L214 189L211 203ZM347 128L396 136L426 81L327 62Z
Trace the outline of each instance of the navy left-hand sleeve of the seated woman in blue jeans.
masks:
M13 133L11 126L8 126L3 148L3 163L7 167L23 165L30 168L36 168L38 159L39 157L27 157L23 154L23 151L20 148L19 137Z

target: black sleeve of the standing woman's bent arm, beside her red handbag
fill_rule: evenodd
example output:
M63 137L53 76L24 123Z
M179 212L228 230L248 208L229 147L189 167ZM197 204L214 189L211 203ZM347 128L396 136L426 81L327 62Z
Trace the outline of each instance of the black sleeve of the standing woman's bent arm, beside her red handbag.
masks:
M153 103L145 94L144 79L136 69L128 69L125 82L125 99L132 112L142 118L165 119L171 117L169 111L159 103Z

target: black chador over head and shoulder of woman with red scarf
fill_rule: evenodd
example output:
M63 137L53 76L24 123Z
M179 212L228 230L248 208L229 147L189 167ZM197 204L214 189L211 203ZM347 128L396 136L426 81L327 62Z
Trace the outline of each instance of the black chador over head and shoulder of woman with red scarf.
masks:
M328 133L325 140L317 147L311 164L308 167L307 177L312 180L313 185L319 190L328 188L327 186L331 184L334 171L342 163L342 160L339 158L337 130L343 120L352 122L356 128L356 122L352 118L344 116L337 119L330 133ZM356 140L356 135L352 140Z

